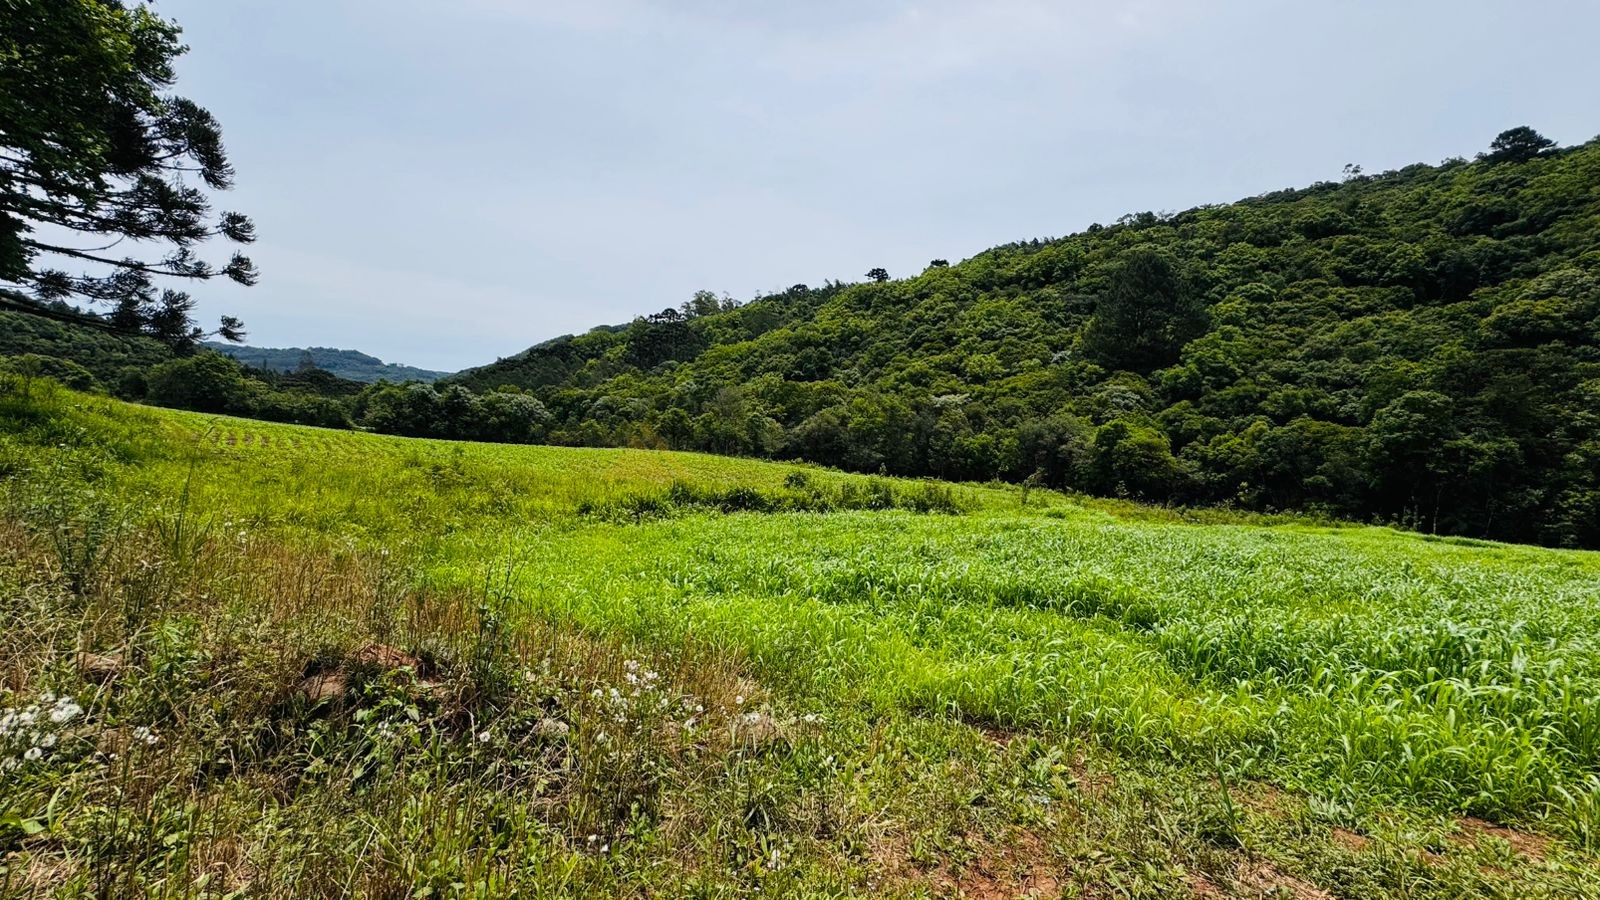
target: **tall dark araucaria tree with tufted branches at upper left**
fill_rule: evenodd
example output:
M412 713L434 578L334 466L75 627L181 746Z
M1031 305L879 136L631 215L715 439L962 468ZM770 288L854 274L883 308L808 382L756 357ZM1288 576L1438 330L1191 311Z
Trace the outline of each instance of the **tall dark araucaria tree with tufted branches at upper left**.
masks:
M250 243L254 226L211 208L234 168L216 119L168 93L186 50L144 3L0 0L0 285L82 298L186 348L205 336L194 301L157 279L256 282L243 253L195 253ZM214 333L243 335L232 317Z

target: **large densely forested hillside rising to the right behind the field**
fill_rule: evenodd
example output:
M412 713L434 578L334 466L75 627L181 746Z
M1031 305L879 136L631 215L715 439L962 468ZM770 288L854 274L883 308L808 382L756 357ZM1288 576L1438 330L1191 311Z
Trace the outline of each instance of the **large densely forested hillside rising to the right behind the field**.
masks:
M451 381L547 439L1600 546L1600 141L1130 215ZM421 397L418 397L421 399Z

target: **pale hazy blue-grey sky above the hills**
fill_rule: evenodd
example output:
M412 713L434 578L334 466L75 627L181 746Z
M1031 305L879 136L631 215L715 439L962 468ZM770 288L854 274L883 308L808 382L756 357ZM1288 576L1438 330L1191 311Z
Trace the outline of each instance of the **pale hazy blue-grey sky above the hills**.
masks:
M1600 135L1594 0L157 0L256 346L458 370L677 306ZM226 248L213 256L226 259Z

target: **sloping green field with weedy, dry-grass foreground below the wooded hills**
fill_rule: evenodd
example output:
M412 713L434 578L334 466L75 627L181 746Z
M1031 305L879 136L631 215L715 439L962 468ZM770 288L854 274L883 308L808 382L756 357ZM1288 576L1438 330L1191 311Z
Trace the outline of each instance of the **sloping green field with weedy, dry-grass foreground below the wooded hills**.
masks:
M0 488L0 895L1600 895L1600 554L38 383Z

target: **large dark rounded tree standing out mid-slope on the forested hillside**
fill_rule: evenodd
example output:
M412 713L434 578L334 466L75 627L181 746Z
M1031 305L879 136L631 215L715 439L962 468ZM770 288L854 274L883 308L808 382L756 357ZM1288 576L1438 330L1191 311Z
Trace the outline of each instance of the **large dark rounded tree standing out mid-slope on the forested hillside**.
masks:
M1173 261L1157 250L1123 256L1083 333L1090 357L1107 368L1149 375L1178 362L1205 333L1205 304L1184 285Z

